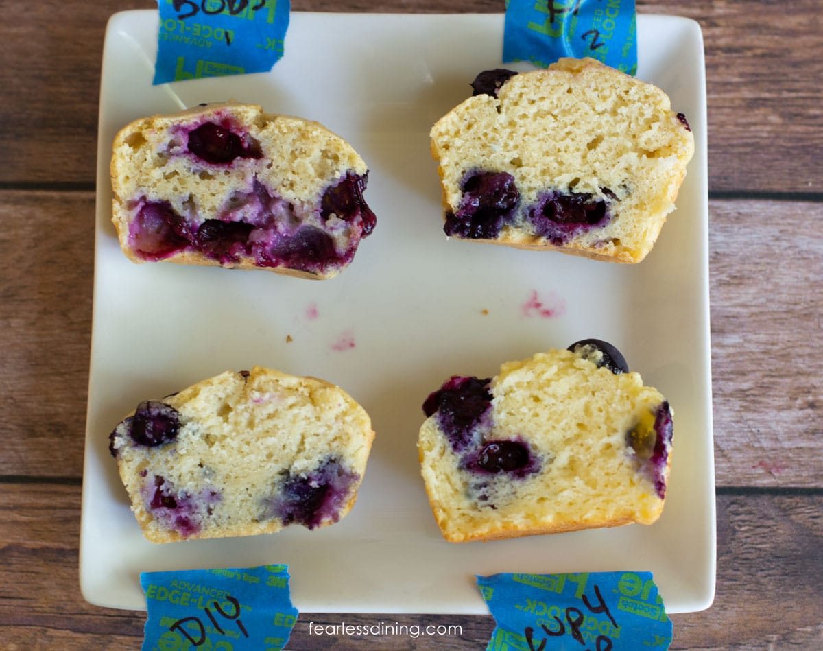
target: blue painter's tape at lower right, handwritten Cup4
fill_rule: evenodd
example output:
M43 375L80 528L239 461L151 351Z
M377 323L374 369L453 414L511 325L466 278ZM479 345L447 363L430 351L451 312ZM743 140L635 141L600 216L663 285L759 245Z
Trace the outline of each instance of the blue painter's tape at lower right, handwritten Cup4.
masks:
M486 651L665 651L672 643L650 572L493 574L477 586L495 617Z

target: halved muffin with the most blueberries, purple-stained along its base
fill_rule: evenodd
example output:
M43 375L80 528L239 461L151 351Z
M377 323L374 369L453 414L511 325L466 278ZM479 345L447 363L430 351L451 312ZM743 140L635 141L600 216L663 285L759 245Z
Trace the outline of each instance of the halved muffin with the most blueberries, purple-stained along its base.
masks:
M200 105L117 134L112 221L135 263L330 278L374 230L368 173L319 123L234 101Z

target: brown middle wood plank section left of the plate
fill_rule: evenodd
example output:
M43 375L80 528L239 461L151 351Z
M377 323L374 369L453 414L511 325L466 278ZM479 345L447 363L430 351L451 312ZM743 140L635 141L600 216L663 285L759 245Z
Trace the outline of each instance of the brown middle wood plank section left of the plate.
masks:
M2 193L0 475L81 476L94 215L91 193Z

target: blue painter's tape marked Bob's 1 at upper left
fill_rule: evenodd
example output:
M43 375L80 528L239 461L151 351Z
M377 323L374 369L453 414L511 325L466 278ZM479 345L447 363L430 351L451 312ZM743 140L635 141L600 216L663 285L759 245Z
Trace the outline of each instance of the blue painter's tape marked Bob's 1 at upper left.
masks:
M283 56L290 0L157 0L154 84L268 72Z

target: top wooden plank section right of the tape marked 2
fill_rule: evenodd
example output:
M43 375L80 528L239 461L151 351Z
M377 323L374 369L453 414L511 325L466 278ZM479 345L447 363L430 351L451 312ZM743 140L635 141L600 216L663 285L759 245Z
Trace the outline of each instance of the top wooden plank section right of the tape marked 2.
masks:
M709 109L709 190L821 193L820 0L637 2L700 23ZM672 10L673 9L673 10Z

